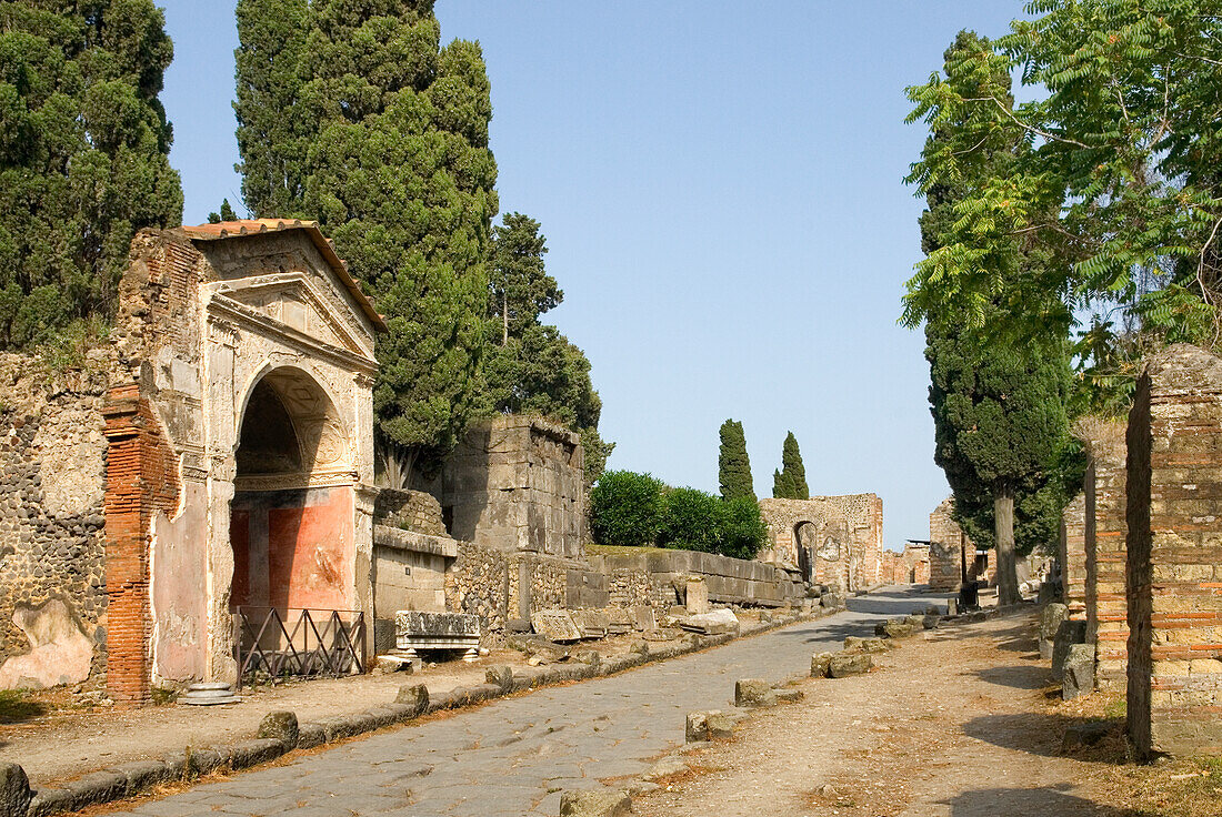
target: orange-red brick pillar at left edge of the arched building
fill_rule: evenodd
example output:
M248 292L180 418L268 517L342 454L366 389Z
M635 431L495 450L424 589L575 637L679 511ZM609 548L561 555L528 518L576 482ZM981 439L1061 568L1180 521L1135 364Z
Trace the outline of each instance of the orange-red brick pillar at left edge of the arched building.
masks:
M117 706L150 697L149 545L154 514L172 512L172 451L138 383L116 386L106 420L106 690Z

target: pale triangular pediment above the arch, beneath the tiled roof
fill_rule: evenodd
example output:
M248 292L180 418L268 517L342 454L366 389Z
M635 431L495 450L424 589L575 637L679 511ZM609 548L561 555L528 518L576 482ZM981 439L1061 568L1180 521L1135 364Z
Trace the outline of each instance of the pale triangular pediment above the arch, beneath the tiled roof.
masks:
M225 297L316 343L373 359L373 349L352 316L342 314L304 274L255 276L227 282Z

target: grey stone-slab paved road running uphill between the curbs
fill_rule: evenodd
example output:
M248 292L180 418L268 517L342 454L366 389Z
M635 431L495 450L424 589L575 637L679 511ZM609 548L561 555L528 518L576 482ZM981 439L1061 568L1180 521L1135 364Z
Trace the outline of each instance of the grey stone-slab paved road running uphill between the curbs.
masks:
M732 706L739 678L809 672L814 652L934 597L886 589L849 609L638 669L371 734L292 763L205 783L131 815L555 816L563 789L640 774L683 741L693 710ZM370 703L375 703L370 701Z

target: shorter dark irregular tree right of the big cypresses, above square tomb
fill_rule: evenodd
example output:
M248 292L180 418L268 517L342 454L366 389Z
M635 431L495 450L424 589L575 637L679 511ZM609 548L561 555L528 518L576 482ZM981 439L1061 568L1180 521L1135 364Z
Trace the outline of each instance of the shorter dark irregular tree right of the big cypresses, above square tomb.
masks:
M585 482L593 486L615 443L599 435L602 401L590 361L560 330L540 322L565 297L544 264L546 239L538 221L518 212L506 215L492 237L481 410L539 414L580 434Z

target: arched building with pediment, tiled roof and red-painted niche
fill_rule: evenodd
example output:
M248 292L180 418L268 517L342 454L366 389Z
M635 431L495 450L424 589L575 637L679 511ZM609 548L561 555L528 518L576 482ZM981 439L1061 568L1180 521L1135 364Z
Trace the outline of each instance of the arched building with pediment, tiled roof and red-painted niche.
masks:
M237 675L240 609L371 618L381 318L313 223L142 231L106 409L108 685ZM371 645L370 645L371 646Z

